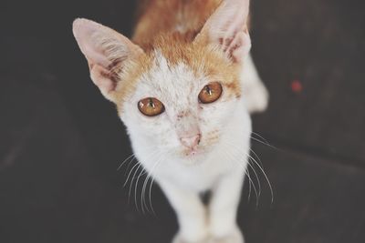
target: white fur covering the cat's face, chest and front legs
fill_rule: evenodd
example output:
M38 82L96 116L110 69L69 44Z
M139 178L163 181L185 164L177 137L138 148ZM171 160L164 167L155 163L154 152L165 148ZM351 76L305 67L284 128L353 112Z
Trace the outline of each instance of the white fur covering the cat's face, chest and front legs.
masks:
M225 242L224 238L242 242L235 218L251 133L245 101L223 93L213 104L200 104L198 94L212 77L194 74L183 63L169 66L158 51L155 56L154 66L141 76L120 118L136 157L156 178L177 213L180 231L175 242ZM147 96L162 101L166 108L162 115L141 114L137 102ZM179 114L184 114L183 121ZM186 156L179 136L192 129L202 133L200 154ZM209 143L208 134L214 130L219 138ZM208 208L199 197L205 190L213 191Z

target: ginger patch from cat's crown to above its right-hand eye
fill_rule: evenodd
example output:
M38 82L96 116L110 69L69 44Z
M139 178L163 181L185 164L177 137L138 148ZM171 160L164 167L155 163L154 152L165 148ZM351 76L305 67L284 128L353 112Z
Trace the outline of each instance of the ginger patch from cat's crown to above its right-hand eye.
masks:
M202 45L185 37L178 33L160 35L154 40L151 51L147 54L153 56L154 50L159 50L169 66L179 64L189 66L195 76L206 76L211 83L218 82L224 86L224 92L229 96L239 98L241 96L239 82L241 65L224 56L217 46Z

